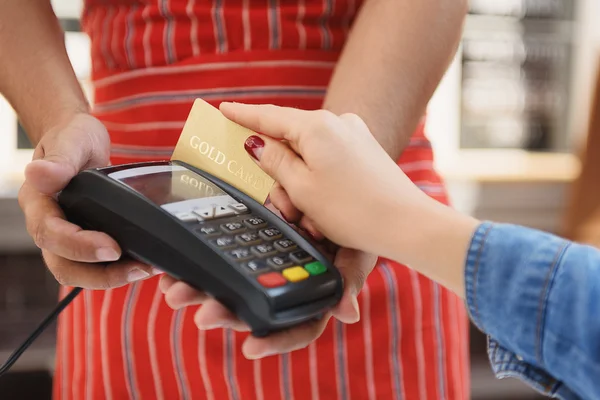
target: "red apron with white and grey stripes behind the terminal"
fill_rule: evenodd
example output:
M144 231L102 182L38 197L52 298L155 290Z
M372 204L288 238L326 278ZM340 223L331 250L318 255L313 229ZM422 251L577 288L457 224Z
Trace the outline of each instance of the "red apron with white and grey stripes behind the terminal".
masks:
M95 113L112 162L169 158L195 98L320 108L359 0L87 0ZM375 28L375 27L374 27ZM399 165L446 201L423 126ZM243 358L245 333L199 331L153 278L85 291L61 316L55 399L465 399L462 302L380 260L362 319L308 348Z

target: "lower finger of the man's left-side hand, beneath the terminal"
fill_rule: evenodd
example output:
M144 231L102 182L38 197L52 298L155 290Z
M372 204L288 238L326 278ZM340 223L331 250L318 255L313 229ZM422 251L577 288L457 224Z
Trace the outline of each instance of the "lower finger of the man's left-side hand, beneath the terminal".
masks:
M158 273L151 266L132 260L107 265L70 261L43 250L48 269L63 286L106 290L148 279Z

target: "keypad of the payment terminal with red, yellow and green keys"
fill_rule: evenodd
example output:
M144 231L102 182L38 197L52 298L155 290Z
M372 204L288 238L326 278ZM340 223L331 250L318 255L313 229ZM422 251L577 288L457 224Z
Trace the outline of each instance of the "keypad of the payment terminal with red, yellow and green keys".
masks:
M252 215L245 205L218 211L211 218L198 219L196 232L263 287L293 285L327 272L322 263L263 218Z

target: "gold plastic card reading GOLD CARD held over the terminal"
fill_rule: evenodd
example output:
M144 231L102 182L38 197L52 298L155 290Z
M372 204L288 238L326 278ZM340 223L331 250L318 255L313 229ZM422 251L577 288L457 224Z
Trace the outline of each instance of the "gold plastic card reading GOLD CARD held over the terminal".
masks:
M258 134L197 99L171 160L206 171L264 204L275 182L244 149L244 142L252 135Z

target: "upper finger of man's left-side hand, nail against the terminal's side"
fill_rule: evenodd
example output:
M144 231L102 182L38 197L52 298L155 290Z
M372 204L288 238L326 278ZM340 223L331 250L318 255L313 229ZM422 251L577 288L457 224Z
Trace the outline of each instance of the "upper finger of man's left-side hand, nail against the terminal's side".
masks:
M110 262L121 256L119 245L110 236L82 230L64 220L56 201L27 182L19 192L19 205L27 231L38 247L79 262Z

